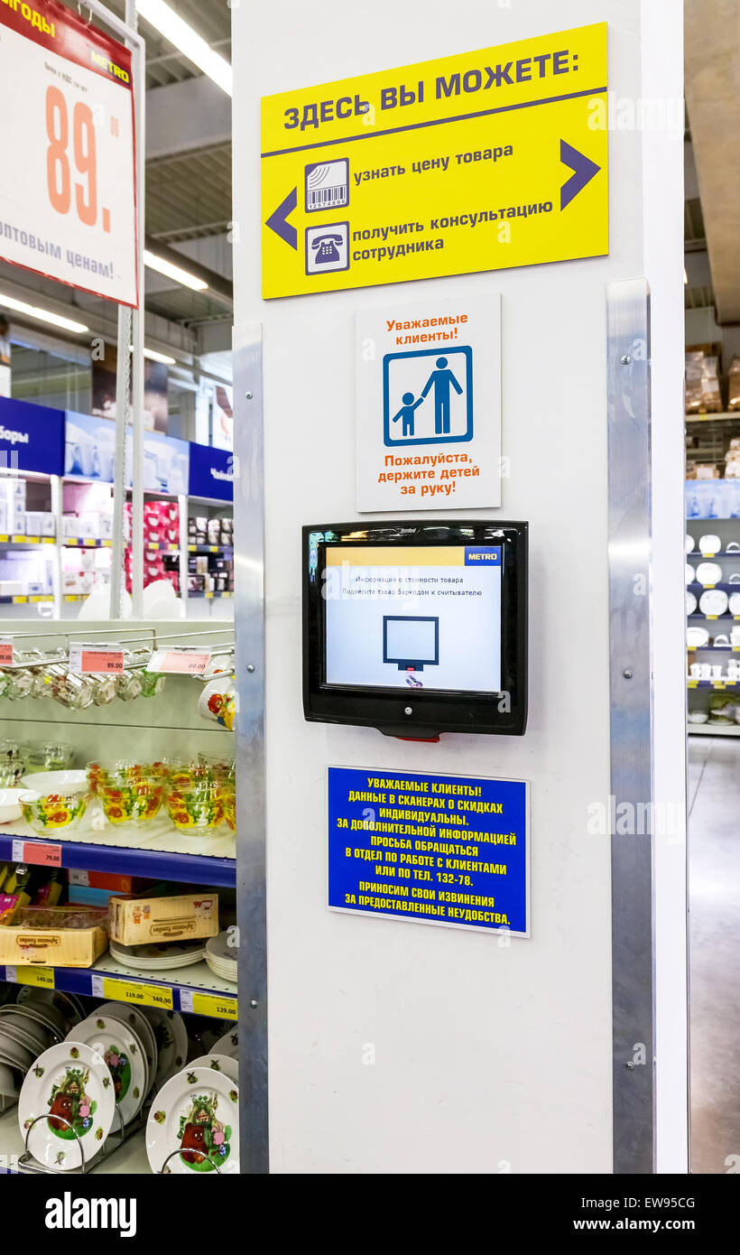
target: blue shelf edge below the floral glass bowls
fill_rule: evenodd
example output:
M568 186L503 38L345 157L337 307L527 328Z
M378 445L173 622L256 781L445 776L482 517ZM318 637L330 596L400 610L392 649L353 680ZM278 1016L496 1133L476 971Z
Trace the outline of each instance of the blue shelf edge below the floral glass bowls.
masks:
M0 861L13 858L13 842L59 845L61 866L84 871L107 871L124 876L145 876L149 880L198 882L213 889L236 886L236 858L214 858L212 855L173 853L167 850L130 850L128 846L85 845L78 841L19 837L0 832ZM70 990L74 993L74 990Z

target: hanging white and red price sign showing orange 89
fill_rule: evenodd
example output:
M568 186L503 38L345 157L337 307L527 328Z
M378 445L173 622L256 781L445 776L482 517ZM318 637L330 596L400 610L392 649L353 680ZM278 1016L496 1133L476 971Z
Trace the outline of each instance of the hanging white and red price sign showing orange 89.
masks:
M1 0L0 108L0 256L137 306L128 49L55 0Z

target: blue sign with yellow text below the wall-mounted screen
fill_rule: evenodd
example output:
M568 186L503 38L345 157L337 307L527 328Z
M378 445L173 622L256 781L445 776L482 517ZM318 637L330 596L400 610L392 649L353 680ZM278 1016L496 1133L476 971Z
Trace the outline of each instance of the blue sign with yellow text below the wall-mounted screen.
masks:
M329 906L529 935L528 787L329 768Z

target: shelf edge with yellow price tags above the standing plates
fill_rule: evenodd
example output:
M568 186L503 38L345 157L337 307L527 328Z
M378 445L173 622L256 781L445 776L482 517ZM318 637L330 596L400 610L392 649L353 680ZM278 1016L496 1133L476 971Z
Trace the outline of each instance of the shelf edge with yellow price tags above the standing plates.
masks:
M138 968L124 968L109 954L100 955L92 968L9 968L0 965L0 980L14 985L43 985L84 998L105 998L113 1003L161 1007L163 1010L194 1012L213 1019L237 1019L237 989L214 976L207 963L173 968L154 975Z

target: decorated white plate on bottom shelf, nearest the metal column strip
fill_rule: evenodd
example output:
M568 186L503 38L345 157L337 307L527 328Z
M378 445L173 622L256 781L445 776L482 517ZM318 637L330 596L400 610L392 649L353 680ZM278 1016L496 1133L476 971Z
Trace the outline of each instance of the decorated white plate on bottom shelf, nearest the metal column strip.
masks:
M238 1086L212 1068L184 1068L162 1087L152 1103L147 1157L152 1172L161 1172L172 1155L167 1170L177 1176L198 1172L216 1176L213 1162L219 1172L237 1173L238 1136ZM227 1150L217 1157L218 1146ZM193 1162L173 1153L181 1147L191 1152ZM206 1158L208 1153L211 1157Z

